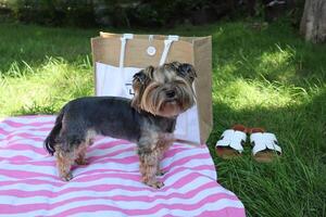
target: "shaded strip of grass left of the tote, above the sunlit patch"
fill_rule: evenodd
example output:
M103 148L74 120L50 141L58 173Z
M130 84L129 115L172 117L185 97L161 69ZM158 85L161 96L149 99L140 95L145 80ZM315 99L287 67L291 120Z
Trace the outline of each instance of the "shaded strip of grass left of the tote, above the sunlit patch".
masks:
M62 56L73 63L90 56L93 29L48 28L34 25L0 24L0 73L20 73L38 67L47 58Z

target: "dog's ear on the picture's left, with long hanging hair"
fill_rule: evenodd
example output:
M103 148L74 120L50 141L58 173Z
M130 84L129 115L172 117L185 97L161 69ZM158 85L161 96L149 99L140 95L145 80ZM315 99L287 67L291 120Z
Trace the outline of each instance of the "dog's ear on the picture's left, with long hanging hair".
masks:
M131 106L139 110L140 108L140 102L141 97L143 93L143 90L146 89L146 86L149 84L149 81L153 77L154 67L148 66L145 69L140 71L139 73L136 73L133 77L133 89L135 92L135 95L131 101Z

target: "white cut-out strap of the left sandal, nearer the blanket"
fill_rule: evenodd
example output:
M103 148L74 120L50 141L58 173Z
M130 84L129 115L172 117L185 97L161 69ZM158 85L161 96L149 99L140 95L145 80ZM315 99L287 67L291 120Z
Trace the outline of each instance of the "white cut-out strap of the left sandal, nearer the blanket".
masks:
M239 153L243 151L241 145L242 141L246 141L247 135L239 130L227 129L222 135L223 139L218 140L216 146L229 146Z

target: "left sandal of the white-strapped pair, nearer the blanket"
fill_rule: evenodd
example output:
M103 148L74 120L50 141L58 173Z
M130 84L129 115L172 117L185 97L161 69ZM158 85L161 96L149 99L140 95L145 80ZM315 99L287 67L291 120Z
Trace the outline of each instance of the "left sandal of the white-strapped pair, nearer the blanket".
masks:
M217 156L222 158L240 156L247 139L246 132L247 128L242 125L236 125L233 129L225 130L215 145Z

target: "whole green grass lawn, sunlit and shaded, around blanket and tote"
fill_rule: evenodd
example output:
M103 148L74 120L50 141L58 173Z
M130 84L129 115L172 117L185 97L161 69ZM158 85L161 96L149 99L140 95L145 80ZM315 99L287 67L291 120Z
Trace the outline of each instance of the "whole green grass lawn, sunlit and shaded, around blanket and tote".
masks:
M53 114L71 99L93 94L90 37L99 30L0 24L0 117ZM287 22L178 27L213 36L214 128L208 144L220 182L248 216L326 216L326 44L304 42ZM214 144L234 124L264 127L284 150L259 164L251 149L233 161Z

